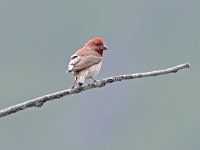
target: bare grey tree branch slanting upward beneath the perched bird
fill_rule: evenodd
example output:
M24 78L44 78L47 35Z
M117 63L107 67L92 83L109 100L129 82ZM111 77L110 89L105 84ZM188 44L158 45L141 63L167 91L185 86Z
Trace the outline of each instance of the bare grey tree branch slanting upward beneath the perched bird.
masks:
M54 99L59 99L63 96L71 95L71 94L77 94L89 89L93 88L100 88L105 86L107 83L113 83L117 81L122 80L129 80L129 79L136 79L136 78L143 78L143 77L151 77L151 76L157 76L167 73L176 73L180 69L189 68L189 63L181 64L172 68L163 69L163 70L157 70L157 71L151 71L151 72L145 72L145 73L136 73L136 74L127 74L127 75L119 75L119 76L113 76L109 77L91 84L84 85L82 87L76 87L74 89L67 89L64 91L59 91L56 93L52 93L49 95L45 95L42 97L38 97L11 107L8 107L6 109L0 110L0 117L4 117L7 115L10 115L12 113L16 113L18 111L27 109L29 107L41 107L45 102L51 101Z

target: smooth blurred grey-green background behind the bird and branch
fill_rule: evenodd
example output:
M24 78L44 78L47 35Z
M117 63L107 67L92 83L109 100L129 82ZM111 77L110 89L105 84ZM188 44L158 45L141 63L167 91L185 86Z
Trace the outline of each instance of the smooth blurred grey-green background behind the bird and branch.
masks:
M199 150L199 0L1 0L0 109L69 88L69 57L102 37L97 79L190 62L0 119L2 150Z

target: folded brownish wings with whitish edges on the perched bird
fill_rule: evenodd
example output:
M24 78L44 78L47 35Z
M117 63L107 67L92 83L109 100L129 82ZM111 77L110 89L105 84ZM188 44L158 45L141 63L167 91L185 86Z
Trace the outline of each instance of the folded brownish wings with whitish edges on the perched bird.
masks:
M77 56L72 55L71 60L68 65L68 72L79 71L95 64L98 64L102 60L102 57L98 56Z

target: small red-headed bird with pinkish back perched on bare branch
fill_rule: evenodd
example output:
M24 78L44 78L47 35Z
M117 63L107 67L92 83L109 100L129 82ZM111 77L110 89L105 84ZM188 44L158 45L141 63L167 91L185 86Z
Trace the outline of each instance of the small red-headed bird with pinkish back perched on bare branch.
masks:
M92 79L96 82L94 77L101 69L104 50L107 50L104 40L94 38L71 56L68 70L66 71L67 73L72 72L75 76L75 81L71 88L74 88L76 84L79 87L82 86L85 79Z

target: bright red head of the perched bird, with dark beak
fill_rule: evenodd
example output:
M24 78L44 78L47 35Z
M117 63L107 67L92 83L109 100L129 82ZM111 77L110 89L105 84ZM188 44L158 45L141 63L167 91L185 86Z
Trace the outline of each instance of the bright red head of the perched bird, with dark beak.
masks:
M90 41L88 41L85 44L85 47L89 47L93 50L95 50L96 52L98 52L99 54L103 55L103 51L107 50L107 46L105 45L105 42L103 39L101 38L94 38Z

